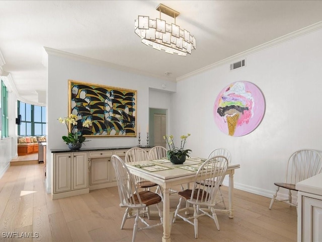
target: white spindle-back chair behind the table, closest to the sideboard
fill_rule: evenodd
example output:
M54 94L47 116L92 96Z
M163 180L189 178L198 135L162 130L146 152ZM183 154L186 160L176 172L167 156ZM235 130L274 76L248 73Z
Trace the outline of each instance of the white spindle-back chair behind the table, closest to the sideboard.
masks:
M126 163L143 161L143 160L150 160L150 157L148 153L140 147L133 147L125 153ZM143 190L147 189L149 191L151 187L156 187L155 192L158 193L163 200L162 189L160 188L159 185L157 185L156 183L152 183L152 181L145 180L142 177L139 177L137 175L133 175L133 176L134 176L135 184L137 188L142 188ZM149 208L147 207L146 209L147 209L147 217L150 218Z

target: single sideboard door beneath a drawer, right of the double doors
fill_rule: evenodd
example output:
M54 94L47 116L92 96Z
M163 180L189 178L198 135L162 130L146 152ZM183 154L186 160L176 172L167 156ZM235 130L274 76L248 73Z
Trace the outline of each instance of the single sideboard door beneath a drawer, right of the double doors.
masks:
M91 185L111 181L111 157L93 158L91 164Z

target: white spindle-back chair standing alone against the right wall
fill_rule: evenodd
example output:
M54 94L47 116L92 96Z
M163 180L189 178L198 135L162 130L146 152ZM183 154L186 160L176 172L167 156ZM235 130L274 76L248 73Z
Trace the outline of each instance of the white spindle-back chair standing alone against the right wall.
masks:
M297 191L296 183L319 174L322 171L322 156L311 149L301 149L295 151L288 159L286 178L284 183L274 183L277 190L271 199L269 209L272 209L274 202L284 202L290 206L295 206L297 211L297 202L292 203L292 192ZM277 199L277 193L280 188L288 190L288 199Z

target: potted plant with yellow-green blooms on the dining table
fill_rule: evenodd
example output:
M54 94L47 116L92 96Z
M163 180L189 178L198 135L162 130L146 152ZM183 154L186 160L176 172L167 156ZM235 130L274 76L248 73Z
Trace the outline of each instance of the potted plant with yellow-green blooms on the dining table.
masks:
M189 156L189 152L192 151L190 149L184 149L186 140L190 136L190 134L181 136L181 145L180 148L177 148L174 144L173 135L166 135L163 138L166 140L166 143L169 146L169 150L167 151L167 157L173 164L182 164L186 161L186 157Z

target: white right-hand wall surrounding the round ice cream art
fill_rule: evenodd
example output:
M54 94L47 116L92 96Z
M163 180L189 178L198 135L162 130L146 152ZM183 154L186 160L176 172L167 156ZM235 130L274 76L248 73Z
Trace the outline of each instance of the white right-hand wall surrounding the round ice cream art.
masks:
M191 133L187 147L206 157L213 149L230 150L235 188L271 197L274 182L284 181L289 155L302 148L321 150L322 30L246 56L246 67L229 64L177 84L171 112L175 137ZM262 123L243 137L230 137L215 125L213 104L228 84L248 81L266 100Z

